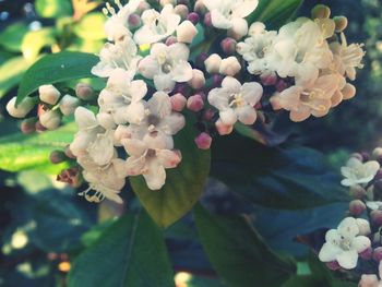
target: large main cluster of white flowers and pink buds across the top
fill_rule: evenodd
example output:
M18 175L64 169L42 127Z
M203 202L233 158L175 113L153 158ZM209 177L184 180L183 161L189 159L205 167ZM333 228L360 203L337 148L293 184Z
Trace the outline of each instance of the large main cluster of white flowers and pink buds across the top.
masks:
M75 96L61 97L47 85L39 99L17 107L12 99L8 110L25 117L39 103L33 124L56 129L76 108L79 132L65 155L76 158L89 184L82 194L121 202L127 177L142 175L159 190L166 169L180 164L174 136L188 124L186 109L196 121L195 144L207 150L213 136L231 133L237 122L263 119L270 103L302 121L355 95L346 79L355 80L365 52L347 44L346 17L330 19L330 9L319 5L312 19L267 31L251 20L256 7L258 0L107 3L108 43L92 69L106 82L99 95L80 84Z

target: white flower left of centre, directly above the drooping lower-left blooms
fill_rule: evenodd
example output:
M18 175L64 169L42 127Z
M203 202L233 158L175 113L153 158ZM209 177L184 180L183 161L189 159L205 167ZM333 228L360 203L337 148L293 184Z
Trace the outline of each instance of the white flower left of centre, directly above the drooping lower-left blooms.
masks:
M144 81L130 82L129 72L116 69L110 74L106 88L99 94L99 111L110 113L117 124L140 123L144 118L142 99L146 93Z

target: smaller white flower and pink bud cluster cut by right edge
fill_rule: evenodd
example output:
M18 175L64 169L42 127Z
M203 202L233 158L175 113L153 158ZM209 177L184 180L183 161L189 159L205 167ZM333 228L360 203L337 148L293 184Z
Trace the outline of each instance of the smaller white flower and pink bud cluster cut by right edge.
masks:
M382 270L382 148L356 153L342 167L342 184L349 188L348 215L326 232L319 258L332 270L360 277L359 286L379 287ZM360 258L360 259L359 259Z

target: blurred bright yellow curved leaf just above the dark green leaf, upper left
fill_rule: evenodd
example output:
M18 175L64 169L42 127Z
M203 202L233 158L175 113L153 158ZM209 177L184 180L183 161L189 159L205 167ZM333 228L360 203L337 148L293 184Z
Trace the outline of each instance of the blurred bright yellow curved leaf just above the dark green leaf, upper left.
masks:
M56 32L53 28L41 28L28 32L22 41L21 50L28 61L35 61L39 51L47 46L56 44Z

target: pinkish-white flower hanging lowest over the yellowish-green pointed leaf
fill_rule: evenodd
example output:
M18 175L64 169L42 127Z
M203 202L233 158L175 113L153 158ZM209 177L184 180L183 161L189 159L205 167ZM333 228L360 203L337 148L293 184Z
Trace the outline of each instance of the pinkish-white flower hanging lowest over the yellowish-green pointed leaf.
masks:
M159 190L166 182L167 168L175 168L181 160L180 152L153 148L147 142L136 139L122 141L127 153L127 174L143 175L151 190Z

